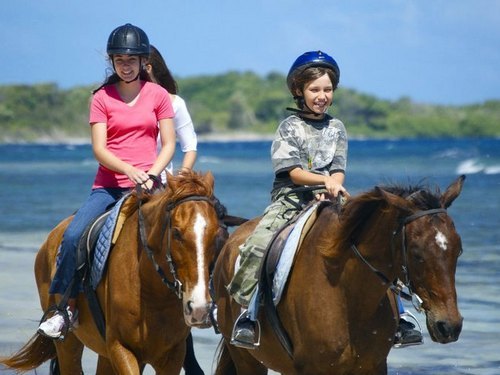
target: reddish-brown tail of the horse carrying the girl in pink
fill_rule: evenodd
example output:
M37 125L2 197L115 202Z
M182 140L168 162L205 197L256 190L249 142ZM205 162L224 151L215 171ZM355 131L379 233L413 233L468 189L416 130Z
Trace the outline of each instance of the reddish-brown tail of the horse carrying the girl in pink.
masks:
M10 357L0 358L0 364L23 373L34 370L55 357L56 346L53 340L35 333L17 353Z

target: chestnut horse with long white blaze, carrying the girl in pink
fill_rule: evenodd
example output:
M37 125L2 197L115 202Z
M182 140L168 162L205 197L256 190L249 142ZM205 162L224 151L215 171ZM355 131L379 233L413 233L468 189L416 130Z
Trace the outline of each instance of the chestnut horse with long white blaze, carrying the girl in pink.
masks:
M145 364L157 374L180 373L190 327L210 324L209 267L219 228L213 188L211 173L185 173L169 176L163 192L133 194L125 201L127 218L97 287L106 321L105 339L81 294L79 324L64 341L35 334L18 353L0 363L26 371L57 356L62 374L80 374L86 346L99 354L100 374L139 374ZM70 220L49 234L36 257L35 276L44 310L57 303L48 290L56 252Z

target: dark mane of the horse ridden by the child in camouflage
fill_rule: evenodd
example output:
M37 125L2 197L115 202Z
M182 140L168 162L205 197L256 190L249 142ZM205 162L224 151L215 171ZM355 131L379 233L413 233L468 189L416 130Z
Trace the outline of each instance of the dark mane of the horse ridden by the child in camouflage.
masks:
M423 184L403 186L391 184L386 186L375 186L372 190L354 196L342 207L339 215L340 226L333 234L333 247L347 249L352 243L356 243L365 231L366 225L372 215L379 210L389 210L390 207L382 193L398 195L411 201L415 210L428 210L441 207L439 188L434 189ZM328 256L327 252L325 255Z

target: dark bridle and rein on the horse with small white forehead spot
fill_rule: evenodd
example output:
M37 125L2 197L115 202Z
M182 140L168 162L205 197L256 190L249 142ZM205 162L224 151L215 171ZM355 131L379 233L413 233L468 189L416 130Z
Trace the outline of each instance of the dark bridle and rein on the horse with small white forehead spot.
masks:
M351 249L356 254L356 256L365 263L372 272L374 272L385 284L391 284L390 289L393 290L395 293L399 294L402 298L411 301L415 307L415 309L419 312L423 311L424 309L422 308L422 300L420 297L413 291L412 288L412 283L410 279L410 271L408 268L408 249L406 246L406 224L411 223L414 220L417 220L421 218L422 216L427 216L427 215L436 215L436 214L442 214L446 213L445 208L433 208L430 210L422 210L422 211L417 211L414 214L404 217L400 220L399 226L396 230L392 232L392 239L391 239L391 251L394 256L395 254L395 245L394 245L394 240L399 232L401 232L401 252L403 255L403 264L402 264L402 271L404 275L404 280L402 282L397 282L397 281L391 281L387 276L384 275L383 272L379 271L376 269L374 266L372 266L365 257L359 252L358 248L354 243L351 244ZM405 287L408 289L408 293L404 292L402 289Z

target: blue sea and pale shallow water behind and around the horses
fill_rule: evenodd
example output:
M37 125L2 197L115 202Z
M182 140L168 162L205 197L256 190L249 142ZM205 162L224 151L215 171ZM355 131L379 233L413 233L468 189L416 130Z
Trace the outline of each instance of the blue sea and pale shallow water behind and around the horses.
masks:
M269 203L269 148L269 141L199 144L196 169L214 174L216 194L230 214L257 216ZM176 154L177 165L180 158ZM34 255L48 232L86 198L96 166L89 145L0 145L0 355L35 332L41 310ZM425 344L393 350L390 374L500 374L500 139L350 141L351 194L387 183L444 190L461 174L467 176L464 189L449 212L464 247L456 275L462 334L455 343L434 343L417 314ZM199 361L211 374L219 336L211 329L193 334ZM91 352L84 369L95 371Z

